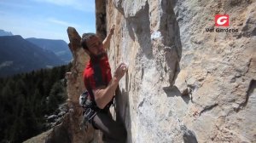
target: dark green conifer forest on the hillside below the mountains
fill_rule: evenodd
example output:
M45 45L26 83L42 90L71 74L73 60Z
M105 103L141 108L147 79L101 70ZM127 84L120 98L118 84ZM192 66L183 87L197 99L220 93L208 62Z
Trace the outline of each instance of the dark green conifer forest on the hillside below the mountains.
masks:
M67 100L71 64L0 78L0 142L22 142L48 127L45 116Z

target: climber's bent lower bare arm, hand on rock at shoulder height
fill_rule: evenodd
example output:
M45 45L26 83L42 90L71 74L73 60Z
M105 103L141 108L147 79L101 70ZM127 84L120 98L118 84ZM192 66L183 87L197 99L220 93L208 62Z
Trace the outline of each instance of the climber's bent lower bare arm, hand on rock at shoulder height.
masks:
M119 64L116 71L114 72L113 79L108 83L107 87L100 87L98 89L93 90L96 105L99 108L103 109L105 106L108 105L110 100L113 99L115 89L119 85L119 80L121 79L121 77L125 75L125 72L127 71L127 69L122 68L122 66L124 65L124 63Z

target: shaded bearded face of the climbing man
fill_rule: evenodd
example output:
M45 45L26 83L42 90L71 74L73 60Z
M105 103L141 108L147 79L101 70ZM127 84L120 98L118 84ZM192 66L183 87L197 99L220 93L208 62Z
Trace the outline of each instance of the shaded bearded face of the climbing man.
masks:
M86 41L90 54L98 56L105 53L102 41L98 37L91 37Z

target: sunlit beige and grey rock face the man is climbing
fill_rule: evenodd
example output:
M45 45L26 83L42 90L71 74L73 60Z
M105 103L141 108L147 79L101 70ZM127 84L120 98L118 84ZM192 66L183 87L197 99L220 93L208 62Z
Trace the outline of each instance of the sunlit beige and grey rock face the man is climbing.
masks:
M129 63L117 101L128 142L256 142L255 1L106 4L111 67Z

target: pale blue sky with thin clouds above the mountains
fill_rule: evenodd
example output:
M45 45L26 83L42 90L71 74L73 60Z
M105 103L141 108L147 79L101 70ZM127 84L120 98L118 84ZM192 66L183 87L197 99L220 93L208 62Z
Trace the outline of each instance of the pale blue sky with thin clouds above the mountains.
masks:
M95 0L0 0L0 29L22 37L62 39L67 27L95 32Z

